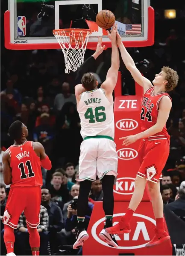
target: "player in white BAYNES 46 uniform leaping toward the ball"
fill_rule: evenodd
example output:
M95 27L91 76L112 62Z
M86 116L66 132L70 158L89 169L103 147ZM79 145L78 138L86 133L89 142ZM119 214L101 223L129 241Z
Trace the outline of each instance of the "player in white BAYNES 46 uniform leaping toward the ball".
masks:
M91 190L91 182L96 177L102 181L103 210L106 224L100 232L100 238L112 247L117 247L114 235L109 235L106 227L112 226L114 209L113 186L117 176L117 152L114 142L115 124L113 112L112 92L117 82L119 69L119 52L116 43L117 26L113 26L111 34L112 42L111 67L107 73L106 81L100 89L98 82L92 73L85 73L82 84L75 87L77 110L81 120L81 135L83 142L80 147L79 157L79 197L77 202L77 228L76 242L73 248L79 248L88 239L85 230L85 215L88 209L88 196ZM102 48L102 39L99 39L97 49Z

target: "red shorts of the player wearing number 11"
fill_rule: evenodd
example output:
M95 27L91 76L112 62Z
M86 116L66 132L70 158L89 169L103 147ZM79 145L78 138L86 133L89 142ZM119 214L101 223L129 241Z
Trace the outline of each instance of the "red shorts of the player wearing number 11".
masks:
M17 229L21 213L24 211L26 223L37 228L40 223L41 187L14 187L10 189L3 223Z

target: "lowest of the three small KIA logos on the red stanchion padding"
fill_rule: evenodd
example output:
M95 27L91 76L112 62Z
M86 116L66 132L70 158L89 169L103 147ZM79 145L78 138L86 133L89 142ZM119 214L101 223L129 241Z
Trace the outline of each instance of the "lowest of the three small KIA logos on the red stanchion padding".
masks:
M114 187L114 192L120 195L132 195L135 188L135 179L124 177L118 178Z

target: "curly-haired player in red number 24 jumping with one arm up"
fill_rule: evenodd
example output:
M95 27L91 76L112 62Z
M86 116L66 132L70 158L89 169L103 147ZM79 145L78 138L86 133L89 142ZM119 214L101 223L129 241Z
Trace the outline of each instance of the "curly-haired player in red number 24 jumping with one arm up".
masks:
M120 138L123 139L123 145L125 146L134 143L138 139L142 139L138 151L141 166L135 178L135 190L126 214L117 225L107 228L106 232L110 234L130 233L130 220L142 200L144 189L148 182L156 218L155 236L146 244L146 247L150 247L170 239L170 236L164 229L163 201L160 193L159 179L170 150L170 136L167 133L166 122L170 114L172 100L167 91L173 90L176 87L179 77L173 69L163 67L153 80L153 86L136 68L132 57L126 51L118 34L117 44L126 68L130 71L134 80L144 89L144 96L141 102L142 132Z

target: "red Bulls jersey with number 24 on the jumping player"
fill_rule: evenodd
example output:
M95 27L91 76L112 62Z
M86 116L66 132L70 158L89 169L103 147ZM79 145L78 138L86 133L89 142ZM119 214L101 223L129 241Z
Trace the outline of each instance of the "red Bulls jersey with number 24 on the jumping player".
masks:
M169 94L166 92L153 95L153 90L154 87L150 87L144 93L143 100L141 102L141 131L145 131L156 124L160 100L164 96L170 97ZM155 135L150 137L153 137L153 139L170 139L170 136L167 133L166 126L163 127L161 132L156 133Z

